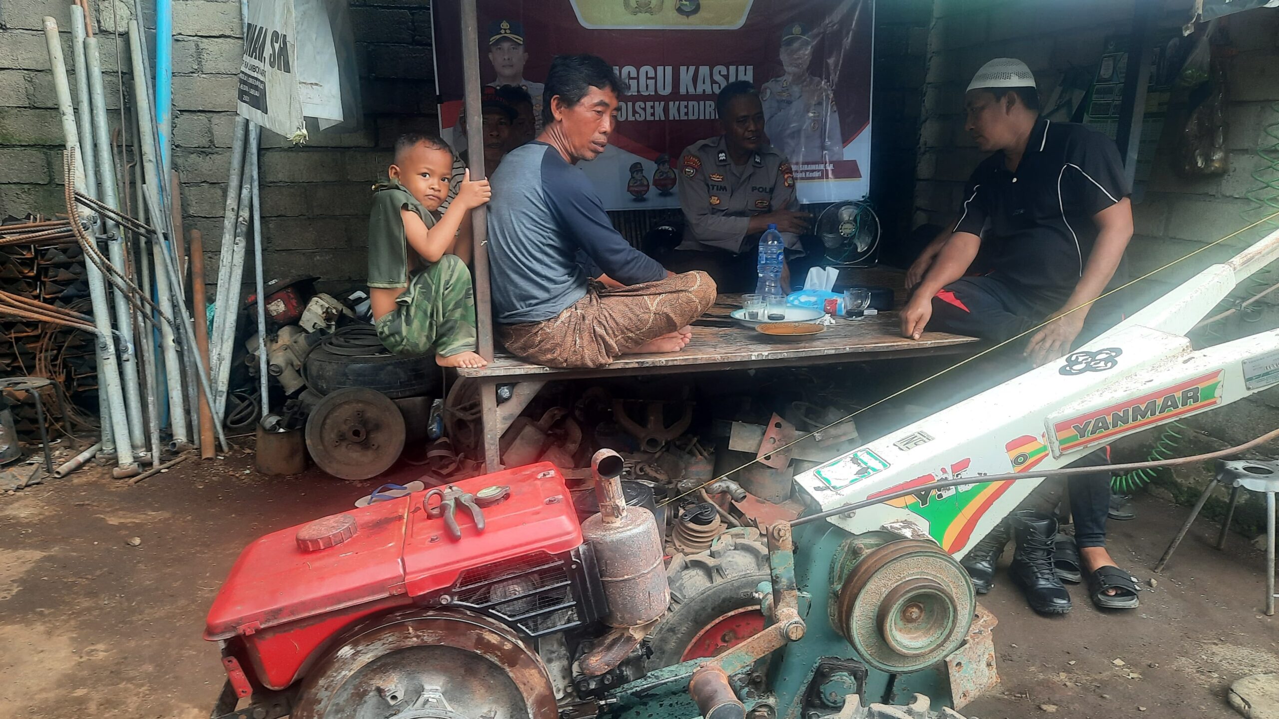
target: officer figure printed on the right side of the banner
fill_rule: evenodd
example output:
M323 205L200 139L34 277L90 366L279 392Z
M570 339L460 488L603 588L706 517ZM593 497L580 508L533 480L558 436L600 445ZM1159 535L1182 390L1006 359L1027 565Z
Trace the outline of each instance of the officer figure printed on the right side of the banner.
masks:
M760 88L764 129L792 162L826 162L844 159L835 95L826 81L808 74L812 38L802 23L781 31L784 75Z

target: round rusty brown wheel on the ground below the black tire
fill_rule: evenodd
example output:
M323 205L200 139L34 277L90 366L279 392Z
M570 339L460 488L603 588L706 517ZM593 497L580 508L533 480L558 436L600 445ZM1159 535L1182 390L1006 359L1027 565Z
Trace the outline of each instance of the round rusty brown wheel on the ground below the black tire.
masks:
M307 417L307 449L321 470L343 480L385 472L404 449L404 415L380 391L339 389Z

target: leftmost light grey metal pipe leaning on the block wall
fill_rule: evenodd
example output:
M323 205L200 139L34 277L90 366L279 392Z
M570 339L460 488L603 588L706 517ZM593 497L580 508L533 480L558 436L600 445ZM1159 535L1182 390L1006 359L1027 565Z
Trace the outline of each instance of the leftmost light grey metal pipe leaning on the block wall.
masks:
M49 47L49 64L52 69L54 91L58 95L58 114L63 123L63 137L67 141L67 154L70 165L70 178L75 191L83 192L84 170L81 162L75 161L79 155L79 134L75 129L75 116L72 111L72 91L67 82L67 61L63 58L63 43L58 36L58 22L46 17L45 45ZM74 202L74 200L72 200ZM106 299L106 284L102 273L92 262L84 264L84 275L88 279L90 299L93 306L93 325L97 328L98 348L98 383L106 394L109 423L111 438L115 440L116 462L120 471L136 472L137 464L133 461L133 443L129 439L129 421L124 409L124 391L120 386L120 368L115 365L115 340L111 336L111 315ZM104 438L105 439L105 438Z

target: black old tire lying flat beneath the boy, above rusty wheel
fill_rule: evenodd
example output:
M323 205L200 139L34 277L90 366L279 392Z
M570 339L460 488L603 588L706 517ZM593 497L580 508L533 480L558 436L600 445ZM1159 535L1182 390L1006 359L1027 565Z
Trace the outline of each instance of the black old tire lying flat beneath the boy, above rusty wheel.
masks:
M307 386L330 394L348 386L372 389L390 399L431 394L440 367L430 354L391 354L372 325L347 325L307 354Z

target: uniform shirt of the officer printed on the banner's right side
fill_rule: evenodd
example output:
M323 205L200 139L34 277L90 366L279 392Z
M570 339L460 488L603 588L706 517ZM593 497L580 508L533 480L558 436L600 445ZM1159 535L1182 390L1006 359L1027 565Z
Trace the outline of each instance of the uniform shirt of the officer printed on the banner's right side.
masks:
M792 162L825 162L844 159L839 113L826 81L808 75L794 84L779 77L760 88L764 132Z

